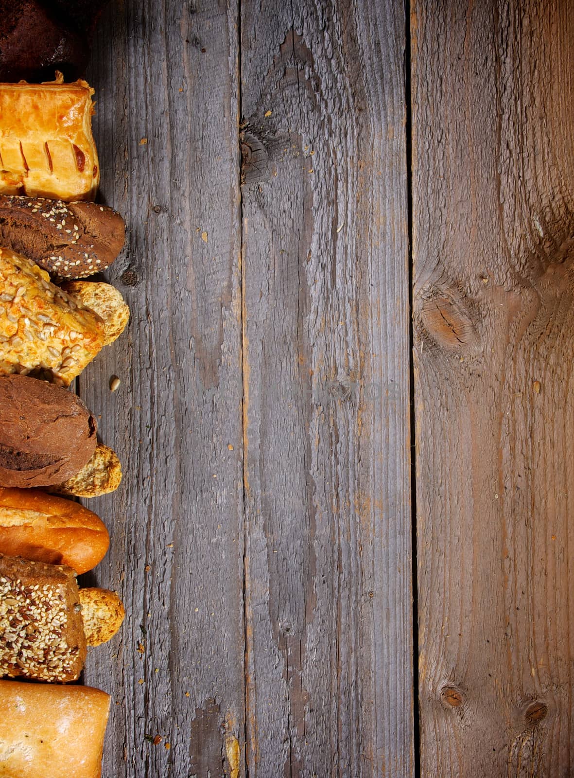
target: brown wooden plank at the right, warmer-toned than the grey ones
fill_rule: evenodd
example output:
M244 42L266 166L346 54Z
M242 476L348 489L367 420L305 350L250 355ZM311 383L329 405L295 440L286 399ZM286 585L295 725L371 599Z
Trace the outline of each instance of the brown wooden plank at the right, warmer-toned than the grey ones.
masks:
M411 16L423 776L571 774L572 5Z

